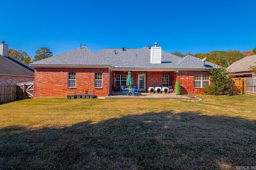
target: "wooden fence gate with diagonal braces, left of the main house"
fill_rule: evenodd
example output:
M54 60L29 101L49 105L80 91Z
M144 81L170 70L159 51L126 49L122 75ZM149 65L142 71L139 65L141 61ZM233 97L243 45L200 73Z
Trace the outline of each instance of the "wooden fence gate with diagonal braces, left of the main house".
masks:
M32 98L34 94L34 82L17 84L17 99Z

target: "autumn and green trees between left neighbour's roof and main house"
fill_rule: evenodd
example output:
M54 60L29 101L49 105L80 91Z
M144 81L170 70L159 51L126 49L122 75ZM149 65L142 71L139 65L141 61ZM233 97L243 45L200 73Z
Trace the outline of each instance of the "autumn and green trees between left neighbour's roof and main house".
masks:
M24 61L24 63L30 64L32 62L51 57L52 52L50 51L50 49L46 47L41 47L40 49L36 50L36 55L34 56L34 59L32 59L32 56L28 55L25 51L8 49L8 55L11 55L12 57Z

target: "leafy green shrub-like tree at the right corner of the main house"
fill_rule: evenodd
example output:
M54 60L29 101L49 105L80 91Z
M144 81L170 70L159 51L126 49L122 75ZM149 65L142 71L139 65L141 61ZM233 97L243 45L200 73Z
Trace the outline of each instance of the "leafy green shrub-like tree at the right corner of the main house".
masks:
M232 73L225 68L212 68L210 69L211 82L215 86L217 92L220 94L229 94L232 90ZM213 89L213 88L211 88Z

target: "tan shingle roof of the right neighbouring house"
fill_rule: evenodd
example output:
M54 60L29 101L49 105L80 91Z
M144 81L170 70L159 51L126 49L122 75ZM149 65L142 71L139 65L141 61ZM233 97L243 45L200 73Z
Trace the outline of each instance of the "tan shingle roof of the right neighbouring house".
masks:
M256 55L251 55L244 57L235 63L232 63L227 70L230 70L231 72L243 72L243 71L249 71L250 72L250 65L256 66Z

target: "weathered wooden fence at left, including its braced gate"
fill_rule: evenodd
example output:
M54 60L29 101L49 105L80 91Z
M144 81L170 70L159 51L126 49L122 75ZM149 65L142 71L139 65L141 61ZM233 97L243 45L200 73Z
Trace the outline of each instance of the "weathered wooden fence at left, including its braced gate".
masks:
M18 99L32 98L34 82L0 84L0 104Z

